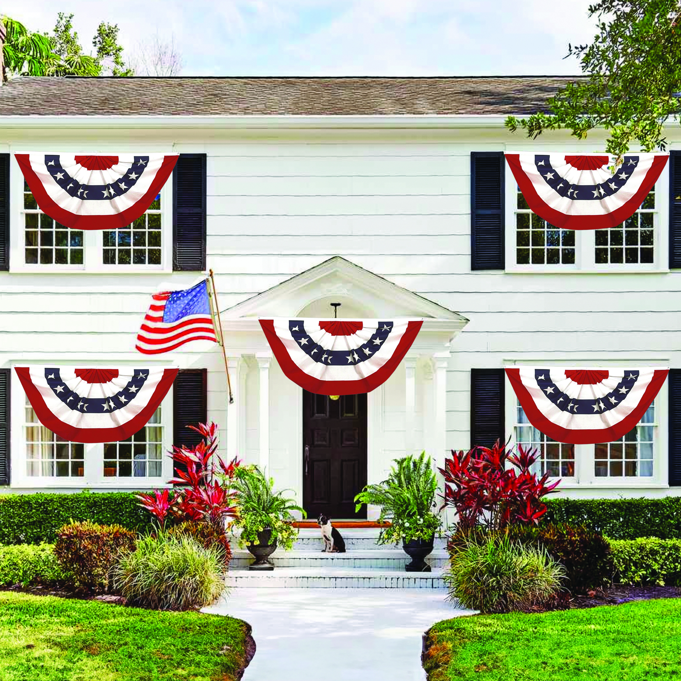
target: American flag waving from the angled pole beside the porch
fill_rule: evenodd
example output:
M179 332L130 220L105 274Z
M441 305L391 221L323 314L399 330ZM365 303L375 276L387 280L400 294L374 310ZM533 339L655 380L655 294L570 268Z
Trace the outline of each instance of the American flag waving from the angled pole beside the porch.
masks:
M146 355L156 355L174 350L190 340L217 343L207 279L184 291L154 294L135 347Z

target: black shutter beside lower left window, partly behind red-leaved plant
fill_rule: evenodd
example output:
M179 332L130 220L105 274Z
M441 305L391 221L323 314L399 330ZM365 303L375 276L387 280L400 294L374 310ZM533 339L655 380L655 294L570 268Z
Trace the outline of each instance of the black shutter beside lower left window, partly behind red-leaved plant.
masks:
M200 434L187 428L208 420L208 370L180 369L173 382L173 437L176 447L195 447Z

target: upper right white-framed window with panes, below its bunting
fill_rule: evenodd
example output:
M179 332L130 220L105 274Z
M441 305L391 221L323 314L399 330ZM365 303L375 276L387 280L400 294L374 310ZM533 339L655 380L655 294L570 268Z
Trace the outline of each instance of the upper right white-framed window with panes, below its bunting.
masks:
M669 171L634 215L612 229L556 229L533 213L511 172L505 174L507 272L667 270Z

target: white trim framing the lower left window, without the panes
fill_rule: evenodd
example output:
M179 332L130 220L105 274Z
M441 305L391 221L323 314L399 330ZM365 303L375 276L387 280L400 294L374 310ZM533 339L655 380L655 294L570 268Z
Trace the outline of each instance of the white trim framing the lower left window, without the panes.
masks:
M35 360L36 363L48 364L52 360ZM76 366L82 362L69 362L54 360L61 366ZM89 366L110 366L116 362L89 362ZM119 362L126 366L150 365L157 366L154 362ZM161 425L163 426L163 457L161 458L161 477L105 477L104 476L104 444L87 443L84 445L84 475L83 477L57 477L40 476L33 477L27 471L27 440L25 426L25 402L26 393L21 385L15 366L25 365L25 362L14 361L11 363L12 379L10 381L10 394L19 396L10 403L10 448L12 450L12 479L10 489L35 489L35 488L97 488L97 489L140 489L172 488L168 480L173 477L173 462L167 452L172 449L173 439L173 392L168 390L163 402L161 402Z

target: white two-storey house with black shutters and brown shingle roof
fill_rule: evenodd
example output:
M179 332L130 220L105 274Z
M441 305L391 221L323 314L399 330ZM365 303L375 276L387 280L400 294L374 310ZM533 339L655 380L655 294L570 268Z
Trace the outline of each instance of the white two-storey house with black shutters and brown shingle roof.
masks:
M20 78L0 87L0 484L148 489L209 419L312 511L392 459L497 437L530 443L571 496L681 492L681 129L627 228L555 230L524 207L501 152L602 151L603 135L509 133L564 78ZM675 151L675 150L680 151ZM14 153L176 151L132 229L60 229ZM150 360L136 333L159 290L215 272L234 387L209 343ZM364 396L304 394L257 317L422 317L394 375ZM180 366L153 423L78 445L40 426L15 364ZM526 425L509 364L670 366L623 441L561 445ZM678 369L676 369L678 368ZM307 452L306 452L307 447Z

